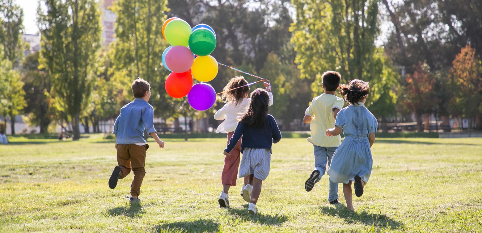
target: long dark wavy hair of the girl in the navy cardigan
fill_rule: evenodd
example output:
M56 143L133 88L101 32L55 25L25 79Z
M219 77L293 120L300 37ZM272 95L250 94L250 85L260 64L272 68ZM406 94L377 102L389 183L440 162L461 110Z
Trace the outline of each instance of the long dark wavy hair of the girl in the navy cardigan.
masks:
M268 102L268 91L258 88L251 92L251 103L241 116L241 122L255 128L263 127L268 114Z

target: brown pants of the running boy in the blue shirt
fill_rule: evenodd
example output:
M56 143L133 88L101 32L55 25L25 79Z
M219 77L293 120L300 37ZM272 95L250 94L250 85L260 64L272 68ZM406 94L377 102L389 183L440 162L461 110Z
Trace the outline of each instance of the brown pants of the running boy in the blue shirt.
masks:
M131 195L138 196L141 193L142 180L146 175L144 165L146 163L146 151L149 145L118 144L117 163L120 167L120 178L123 179L131 169L134 172L134 180L131 184Z

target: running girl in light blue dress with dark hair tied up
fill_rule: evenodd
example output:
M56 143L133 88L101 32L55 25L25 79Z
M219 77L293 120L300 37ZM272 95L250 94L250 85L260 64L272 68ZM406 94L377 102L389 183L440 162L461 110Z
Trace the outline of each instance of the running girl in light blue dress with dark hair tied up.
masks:
M345 139L336 149L328 169L330 181L343 183L343 194L347 208L353 209L351 182L354 182L355 194L362 196L363 187L372 172L372 152L378 122L368 109L365 101L370 92L368 82L351 80L340 86L340 94L350 104L338 113L335 127L326 130L326 135L339 135L343 129Z

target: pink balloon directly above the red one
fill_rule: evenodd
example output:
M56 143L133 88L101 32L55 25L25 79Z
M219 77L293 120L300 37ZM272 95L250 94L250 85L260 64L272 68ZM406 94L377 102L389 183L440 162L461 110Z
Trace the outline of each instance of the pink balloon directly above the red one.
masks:
M185 46L174 46L166 53L166 65L175 73L188 71L193 63L192 52Z

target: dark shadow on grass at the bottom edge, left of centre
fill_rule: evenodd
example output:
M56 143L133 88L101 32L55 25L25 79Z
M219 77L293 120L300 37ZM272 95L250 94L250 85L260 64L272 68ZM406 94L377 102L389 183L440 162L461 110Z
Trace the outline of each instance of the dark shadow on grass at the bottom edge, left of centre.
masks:
M219 223L212 220L175 221L154 227L155 232L219 232Z

